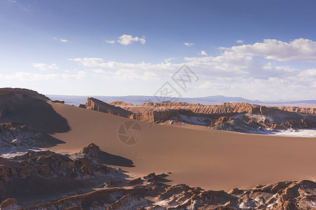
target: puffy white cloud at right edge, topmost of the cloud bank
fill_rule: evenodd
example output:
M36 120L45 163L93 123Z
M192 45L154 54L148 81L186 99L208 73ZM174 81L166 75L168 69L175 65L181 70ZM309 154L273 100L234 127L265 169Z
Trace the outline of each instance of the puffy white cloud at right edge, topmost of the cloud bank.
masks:
M257 55L282 62L316 62L316 42L305 38L298 38L289 43L265 39L263 43L219 49L238 55Z

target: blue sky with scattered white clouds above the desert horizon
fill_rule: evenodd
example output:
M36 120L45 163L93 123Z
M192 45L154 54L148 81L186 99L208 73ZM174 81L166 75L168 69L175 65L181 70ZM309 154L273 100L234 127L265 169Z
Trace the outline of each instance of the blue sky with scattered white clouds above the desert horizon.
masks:
M316 1L0 0L0 87L316 99Z

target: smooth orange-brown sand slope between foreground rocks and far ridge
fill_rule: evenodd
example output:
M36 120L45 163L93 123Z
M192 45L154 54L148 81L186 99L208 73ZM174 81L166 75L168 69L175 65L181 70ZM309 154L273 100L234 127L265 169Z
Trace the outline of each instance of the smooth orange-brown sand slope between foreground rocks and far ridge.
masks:
M118 141L118 127L127 118L52 104L71 130L53 137L65 141L53 149L79 151L95 143L121 155L137 175L172 172L174 183L212 190L251 188L284 180L315 179L316 138L273 137L207 129L187 129L138 122L142 139L134 146Z

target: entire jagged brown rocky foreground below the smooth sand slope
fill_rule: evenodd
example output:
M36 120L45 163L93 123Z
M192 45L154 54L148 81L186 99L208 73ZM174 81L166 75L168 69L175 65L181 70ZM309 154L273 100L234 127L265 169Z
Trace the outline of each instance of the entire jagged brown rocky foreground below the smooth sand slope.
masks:
M0 209L316 209L315 181L228 193L170 186L169 173L132 179L100 163L102 153L90 144L72 155L28 151L1 158Z

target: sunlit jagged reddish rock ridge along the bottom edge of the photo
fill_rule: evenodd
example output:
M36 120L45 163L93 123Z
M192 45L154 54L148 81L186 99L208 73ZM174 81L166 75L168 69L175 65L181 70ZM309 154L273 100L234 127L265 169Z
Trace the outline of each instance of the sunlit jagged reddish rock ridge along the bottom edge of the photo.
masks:
M165 176L163 176L165 177ZM129 188L108 188L83 195L63 197L54 202L21 209L275 209L311 210L316 208L315 181L282 181L249 190L234 188L203 190L184 184L169 186L157 181L161 175L149 174L130 181ZM135 184L137 183L137 184ZM17 207L15 200L1 206ZM1 207L0 206L0 207Z

